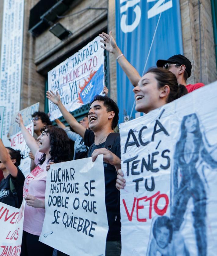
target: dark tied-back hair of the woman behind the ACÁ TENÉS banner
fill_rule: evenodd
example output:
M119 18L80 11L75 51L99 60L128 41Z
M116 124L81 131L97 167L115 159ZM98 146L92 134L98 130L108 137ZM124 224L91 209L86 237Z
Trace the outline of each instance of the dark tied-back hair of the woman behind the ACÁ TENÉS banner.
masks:
M167 103L174 101L183 95L187 94L186 87L182 84L178 84L176 76L169 70L163 68L150 68L147 73L153 73L157 80L158 88L168 85L170 93L167 97Z

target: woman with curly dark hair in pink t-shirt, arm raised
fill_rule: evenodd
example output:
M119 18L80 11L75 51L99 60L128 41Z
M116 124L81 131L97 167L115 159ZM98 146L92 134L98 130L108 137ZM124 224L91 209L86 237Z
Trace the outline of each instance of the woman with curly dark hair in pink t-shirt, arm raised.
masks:
M69 160L70 146L66 132L55 126L45 126L38 137L38 144L24 126L22 116L16 117L27 146L35 158L36 167L26 177L23 196L24 211L21 256L52 255L53 248L38 241L45 218L46 165Z

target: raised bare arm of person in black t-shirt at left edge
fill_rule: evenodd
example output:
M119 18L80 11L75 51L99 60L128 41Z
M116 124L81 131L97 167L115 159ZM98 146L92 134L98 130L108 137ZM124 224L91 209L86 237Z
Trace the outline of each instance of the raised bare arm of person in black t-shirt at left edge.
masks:
M13 164L13 162L12 162L13 159L10 158L10 155L9 155L7 149L5 148L1 139L0 139L0 160L4 164L6 169L9 171L11 176L16 178L17 173L18 173L17 168Z

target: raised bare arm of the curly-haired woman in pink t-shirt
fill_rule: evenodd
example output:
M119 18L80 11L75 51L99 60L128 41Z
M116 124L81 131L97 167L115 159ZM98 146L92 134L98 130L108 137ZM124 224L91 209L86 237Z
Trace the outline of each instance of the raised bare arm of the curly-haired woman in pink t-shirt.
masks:
M21 132L23 133L24 140L26 141L27 146L30 148L31 152L35 156L38 145L34 139L34 137L27 131L26 127L24 126L23 118L20 113L16 116L16 123L19 124Z

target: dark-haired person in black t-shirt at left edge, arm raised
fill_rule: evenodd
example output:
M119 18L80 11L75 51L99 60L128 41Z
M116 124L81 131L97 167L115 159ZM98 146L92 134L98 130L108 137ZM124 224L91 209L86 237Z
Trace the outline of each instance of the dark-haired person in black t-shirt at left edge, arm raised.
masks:
M0 182L0 202L16 208L20 208L23 202L25 177L18 167L21 159L20 150L5 148L0 139L0 170L4 175Z

